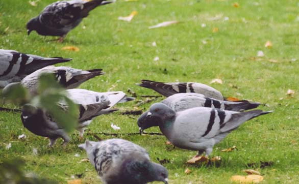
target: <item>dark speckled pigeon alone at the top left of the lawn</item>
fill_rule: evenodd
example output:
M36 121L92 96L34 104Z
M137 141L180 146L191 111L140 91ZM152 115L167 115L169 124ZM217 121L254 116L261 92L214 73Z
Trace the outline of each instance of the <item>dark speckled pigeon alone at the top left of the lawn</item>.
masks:
M27 23L27 33L30 35L35 30L39 35L59 36L58 41L62 42L67 33L79 25L91 10L113 2L103 0L55 2L45 7L39 16L32 18Z

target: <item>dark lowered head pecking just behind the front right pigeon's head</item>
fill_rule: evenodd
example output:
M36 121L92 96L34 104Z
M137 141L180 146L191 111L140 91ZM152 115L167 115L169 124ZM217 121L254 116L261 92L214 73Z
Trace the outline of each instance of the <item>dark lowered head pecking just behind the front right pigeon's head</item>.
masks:
M159 126L159 118L155 116L147 116L148 112L146 111L137 120L137 125L139 127L139 132L142 134L143 130L148 129L150 127L158 127Z

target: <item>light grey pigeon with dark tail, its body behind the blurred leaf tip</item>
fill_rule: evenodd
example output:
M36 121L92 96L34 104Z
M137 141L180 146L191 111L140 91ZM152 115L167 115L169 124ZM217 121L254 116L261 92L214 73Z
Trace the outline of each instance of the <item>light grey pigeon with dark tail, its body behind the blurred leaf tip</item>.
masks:
M102 69L84 71L70 67L47 66L24 77L20 81L20 84L29 89L30 94L36 95L38 89L38 77L43 73L53 73L57 81L66 89L76 88L93 77L105 74ZM16 84L18 83L10 83L4 88L3 92L5 93L5 91L9 91L9 89Z

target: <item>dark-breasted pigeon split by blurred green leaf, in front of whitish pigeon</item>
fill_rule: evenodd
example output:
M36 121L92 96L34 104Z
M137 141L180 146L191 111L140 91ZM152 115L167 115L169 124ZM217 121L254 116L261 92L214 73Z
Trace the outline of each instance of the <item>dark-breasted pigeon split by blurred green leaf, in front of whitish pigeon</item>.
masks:
M86 121L101 115L101 111L103 109L109 108L109 103L110 102L106 100L97 104L79 104L80 114L78 117L78 129L84 127L81 124L84 124ZM63 103L59 104L58 107L67 108L67 106L65 106ZM70 138L65 132L64 128L60 127L57 122L55 122L55 119L51 117L51 115L31 104L26 104L22 107L21 120L23 126L30 132L39 136L48 137L50 140L49 146L51 147L55 144L59 137L64 140L64 145L70 141Z

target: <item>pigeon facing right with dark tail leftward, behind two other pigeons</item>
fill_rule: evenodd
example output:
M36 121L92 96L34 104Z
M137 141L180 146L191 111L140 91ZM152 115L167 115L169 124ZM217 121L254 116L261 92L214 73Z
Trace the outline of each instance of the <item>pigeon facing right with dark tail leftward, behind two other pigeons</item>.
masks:
M151 80L141 80L141 84L136 84L141 87L154 89L159 94L169 97L178 93L198 93L203 94L206 97L216 100L224 100L220 91L214 89L211 86L196 82L155 82Z

